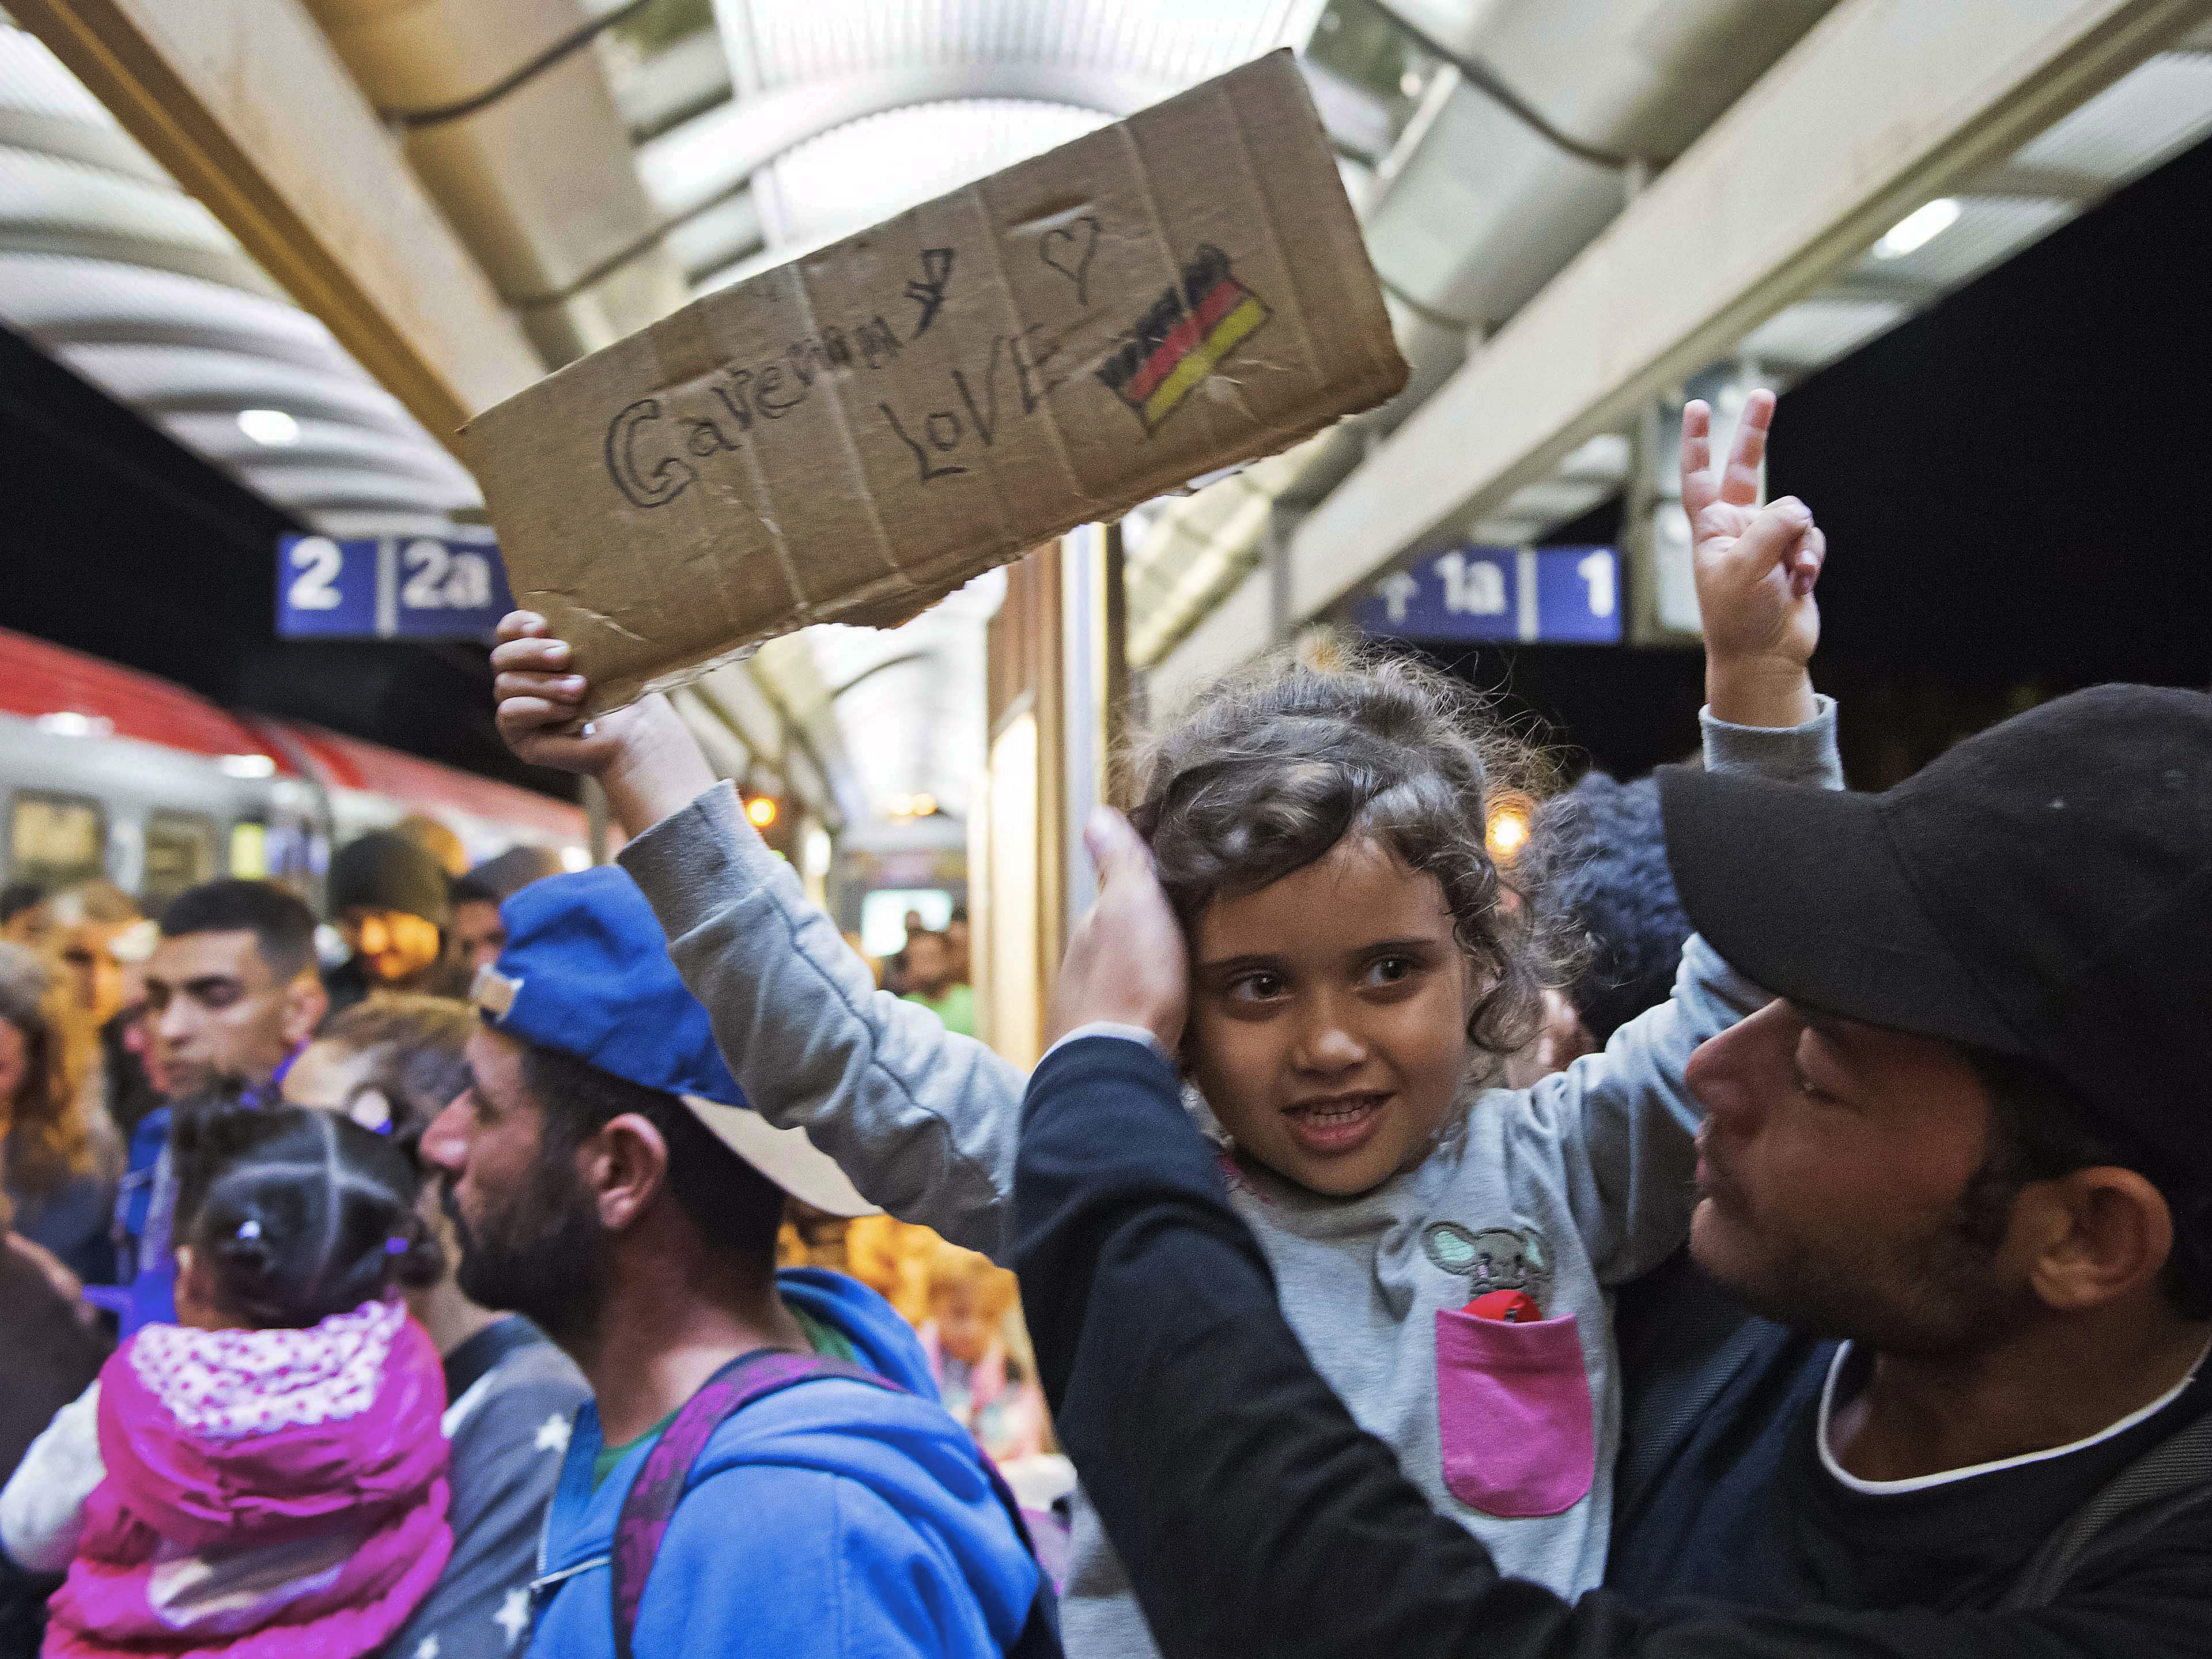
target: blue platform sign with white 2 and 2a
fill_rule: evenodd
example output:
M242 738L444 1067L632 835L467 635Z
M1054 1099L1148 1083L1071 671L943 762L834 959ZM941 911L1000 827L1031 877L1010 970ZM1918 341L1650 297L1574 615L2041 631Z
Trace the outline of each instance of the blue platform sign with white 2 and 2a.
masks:
M491 639L513 611L491 542L387 535L276 542L283 639Z

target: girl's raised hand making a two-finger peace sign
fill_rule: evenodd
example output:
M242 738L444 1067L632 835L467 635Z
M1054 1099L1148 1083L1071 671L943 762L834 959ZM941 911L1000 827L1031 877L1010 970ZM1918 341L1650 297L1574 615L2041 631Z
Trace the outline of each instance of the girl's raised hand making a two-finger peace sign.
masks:
M1805 666L1820 641L1814 582L1827 538L1794 495L1759 504L1774 394L1743 405L1728 467L1712 471L1712 411L1681 411L1681 504L1705 635L1705 701L1734 726L1803 726L1818 706Z

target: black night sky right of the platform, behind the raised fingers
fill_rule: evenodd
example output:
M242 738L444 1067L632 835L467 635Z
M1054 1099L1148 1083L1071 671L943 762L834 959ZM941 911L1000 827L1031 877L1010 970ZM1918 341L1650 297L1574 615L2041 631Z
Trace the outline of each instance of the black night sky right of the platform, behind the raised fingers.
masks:
M1767 487L1829 540L1814 679L1851 783L2079 686L2212 686L2199 146L1781 400ZM1553 540L1613 542L1619 504ZM1697 741L1694 650L1438 661L1621 776Z

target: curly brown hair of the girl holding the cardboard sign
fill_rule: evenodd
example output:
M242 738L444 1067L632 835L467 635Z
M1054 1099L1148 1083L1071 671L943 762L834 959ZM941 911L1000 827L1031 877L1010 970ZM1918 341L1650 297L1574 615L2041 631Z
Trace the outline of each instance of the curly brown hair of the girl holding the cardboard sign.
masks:
M1484 845L1493 790L1537 790L1540 750L1464 684L1405 657L1327 644L1276 655L1197 692L1133 757L1130 823L1190 929L1214 898L1254 894L1345 836L1436 876L1473 967L1469 1040L1511 1053L1533 1035L1544 978L1531 907Z

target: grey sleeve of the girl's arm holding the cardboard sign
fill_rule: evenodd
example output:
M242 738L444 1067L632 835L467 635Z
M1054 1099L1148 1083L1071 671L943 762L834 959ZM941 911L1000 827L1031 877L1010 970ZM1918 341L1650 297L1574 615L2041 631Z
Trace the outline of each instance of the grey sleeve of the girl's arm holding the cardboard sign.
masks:
M1000 1256L1026 1077L876 989L719 783L622 849L752 1106L902 1221Z

